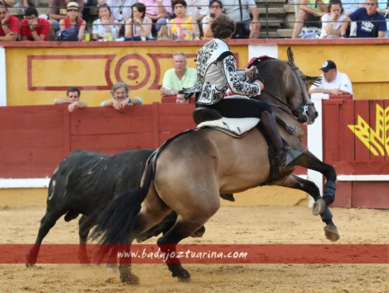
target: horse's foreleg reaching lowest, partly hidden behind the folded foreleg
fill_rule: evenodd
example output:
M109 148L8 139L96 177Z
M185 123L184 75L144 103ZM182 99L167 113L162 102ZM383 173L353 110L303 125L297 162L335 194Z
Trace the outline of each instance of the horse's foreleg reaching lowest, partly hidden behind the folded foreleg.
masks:
M311 197L314 197L314 200L320 198L320 191L314 182L302 179L295 175L289 176L288 179L284 180L282 184L279 185L305 191L311 195ZM339 239L339 232L337 231L337 227L332 221L332 213L330 209L326 207L320 216L321 220L323 220L323 222L326 224L324 227L325 237L330 241L337 241Z

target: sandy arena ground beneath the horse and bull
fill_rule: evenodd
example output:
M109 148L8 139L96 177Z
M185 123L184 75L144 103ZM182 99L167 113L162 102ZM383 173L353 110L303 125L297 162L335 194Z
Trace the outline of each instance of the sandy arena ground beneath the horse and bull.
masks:
M42 206L0 210L0 243L34 243ZM332 209L339 243L389 243L389 211ZM184 243L329 243L304 206L223 206L203 239ZM153 242L155 238L153 239ZM61 218L44 243L78 243L78 221ZM163 264L134 264L140 285L117 271L81 264L0 264L0 292L389 292L388 264L186 264L179 283Z

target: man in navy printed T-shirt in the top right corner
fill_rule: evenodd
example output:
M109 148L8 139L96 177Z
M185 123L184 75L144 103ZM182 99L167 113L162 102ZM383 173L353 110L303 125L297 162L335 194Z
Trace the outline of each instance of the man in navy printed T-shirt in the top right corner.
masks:
M386 18L377 11L377 0L366 0L365 8L358 8L345 22L357 22L357 38L385 38Z

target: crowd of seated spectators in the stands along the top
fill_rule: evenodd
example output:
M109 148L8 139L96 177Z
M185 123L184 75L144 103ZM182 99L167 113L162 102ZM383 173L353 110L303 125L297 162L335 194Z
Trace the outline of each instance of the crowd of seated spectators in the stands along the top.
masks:
M223 13L237 24L233 38L260 37L261 6L254 0L48 0L41 14L31 7L38 0L19 1L0 0L0 41L155 40L162 27L171 38L161 39L209 40L212 21ZM292 38L311 21L319 23L320 38L382 38L387 31L388 8L377 0L290 1L298 8ZM12 7L23 15L11 15Z

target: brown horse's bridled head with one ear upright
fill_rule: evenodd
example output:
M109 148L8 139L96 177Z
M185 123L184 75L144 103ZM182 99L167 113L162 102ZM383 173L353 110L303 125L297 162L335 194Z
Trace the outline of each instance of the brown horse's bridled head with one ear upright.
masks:
M314 123L318 112L309 98L306 82L315 82L316 77L307 77L295 66L290 48L288 59L267 59L257 63L265 85L263 93L267 100L274 100L278 107L284 110L287 107L300 123Z

